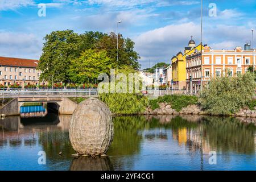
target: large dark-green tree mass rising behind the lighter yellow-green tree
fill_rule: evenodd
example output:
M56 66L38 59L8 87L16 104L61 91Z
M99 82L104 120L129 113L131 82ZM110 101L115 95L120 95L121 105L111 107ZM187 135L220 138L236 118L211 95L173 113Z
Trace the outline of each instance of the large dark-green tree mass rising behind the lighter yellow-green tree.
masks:
M38 67L42 71L40 80L52 81L53 78L54 82L75 81L74 76L71 78L72 74L70 74L69 69L75 68L77 64L74 60L77 60L81 54L85 56L85 53L90 52L89 49L94 50L94 53L105 51L106 56L111 60L111 65L115 66L112 68L122 68L125 65L134 69L140 67L138 53L134 51L134 42L129 38L123 38L121 34L119 34L118 39L118 61L117 35L114 33L108 35L102 32L89 31L79 35L72 30L53 31L46 35L44 40L43 53ZM96 67L91 65L91 68ZM83 73L79 74L82 75Z

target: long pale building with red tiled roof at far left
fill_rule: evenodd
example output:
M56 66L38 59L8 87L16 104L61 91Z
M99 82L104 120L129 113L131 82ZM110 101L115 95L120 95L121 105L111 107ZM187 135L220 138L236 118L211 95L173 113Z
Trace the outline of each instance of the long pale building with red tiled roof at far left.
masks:
M0 57L0 84L39 84L38 60Z

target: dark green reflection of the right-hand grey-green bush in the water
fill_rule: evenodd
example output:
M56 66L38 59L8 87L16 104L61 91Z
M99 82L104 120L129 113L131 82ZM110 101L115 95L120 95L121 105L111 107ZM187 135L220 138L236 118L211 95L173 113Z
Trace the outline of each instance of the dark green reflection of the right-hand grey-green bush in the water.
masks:
M236 151L242 154L254 154L254 125L246 125L236 118L204 117L202 134L210 146L219 151Z

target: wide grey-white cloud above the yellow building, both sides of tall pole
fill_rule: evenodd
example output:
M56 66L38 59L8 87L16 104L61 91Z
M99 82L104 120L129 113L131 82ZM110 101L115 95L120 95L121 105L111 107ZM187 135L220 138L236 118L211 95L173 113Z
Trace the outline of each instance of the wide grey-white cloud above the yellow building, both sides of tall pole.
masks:
M147 31L134 38L135 50L141 56L142 68L159 61L170 63L171 57L177 52L183 52L188 46L190 36L196 44L200 43L200 25L193 22L171 24L166 27ZM234 49L251 40L250 28L244 26L207 26L204 28L203 44L214 49Z

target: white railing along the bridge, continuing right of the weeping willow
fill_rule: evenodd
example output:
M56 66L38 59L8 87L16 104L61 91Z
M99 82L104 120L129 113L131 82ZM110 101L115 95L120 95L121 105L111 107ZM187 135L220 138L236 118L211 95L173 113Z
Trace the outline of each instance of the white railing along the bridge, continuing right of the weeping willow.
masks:
M195 95L195 90L145 90L148 96L163 96L172 94ZM26 97L97 97L97 89L27 89L27 90L0 90L0 98L26 98Z

